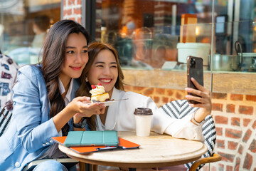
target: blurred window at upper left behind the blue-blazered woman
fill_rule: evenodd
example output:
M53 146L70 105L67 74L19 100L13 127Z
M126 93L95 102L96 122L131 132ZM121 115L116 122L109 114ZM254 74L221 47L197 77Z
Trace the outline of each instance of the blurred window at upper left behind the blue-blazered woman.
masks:
M1 52L22 66L38 63L50 25L60 20L60 0L0 0Z

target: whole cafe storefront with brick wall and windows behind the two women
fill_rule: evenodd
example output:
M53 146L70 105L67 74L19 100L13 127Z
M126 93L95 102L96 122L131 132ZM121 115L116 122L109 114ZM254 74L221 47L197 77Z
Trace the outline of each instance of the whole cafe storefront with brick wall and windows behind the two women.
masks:
M189 48L187 45L200 49L203 43L203 48L196 52L207 53L198 56L205 61L204 84L212 90L212 115L217 130L215 152L223 156L222 161L203 170L208 167L210 170L256 169L253 162L256 159L256 4L253 0L24 0L16 4L23 5L19 8L23 9L21 14L11 14L18 10L1 4L6 11L1 13L0 24L5 34L10 35L1 36L2 52L11 56L17 47L31 49L33 18L39 14L48 15L50 24L73 19L90 31L93 40L112 43L117 48L127 84L125 89L150 96L159 107L171 100L185 99L186 61L182 53ZM182 14L196 14L196 21L192 15L183 24ZM240 61L240 49L238 54L235 51L236 41L242 44L244 62ZM20 64L33 63L33 55L27 61L21 57ZM228 66L215 66L222 62L215 59L224 55L238 61L232 64L229 60Z

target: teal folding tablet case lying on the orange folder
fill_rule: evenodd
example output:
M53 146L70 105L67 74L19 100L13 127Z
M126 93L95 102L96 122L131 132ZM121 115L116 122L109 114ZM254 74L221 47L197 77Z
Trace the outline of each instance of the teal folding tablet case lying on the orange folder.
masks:
M64 145L66 147L118 146L119 140L115 130L70 131Z

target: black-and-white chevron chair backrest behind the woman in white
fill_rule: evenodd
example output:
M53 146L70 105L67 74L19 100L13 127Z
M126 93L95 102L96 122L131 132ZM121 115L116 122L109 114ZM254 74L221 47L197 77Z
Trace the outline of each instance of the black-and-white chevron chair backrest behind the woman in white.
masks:
M188 104L188 100L174 100L172 102L166 103L163 105L161 110L164 111L171 118L181 119L186 115L196 112L198 108L193 108ZM203 137L205 138L204 143L208 147L208 151L202 155L202 157L210 157L213 155L213 148L216 142L216 130L213 118L211 115L208 115L203 123ZM188 168L191 167L193 162L186 163L185 166ZM204 164L203 164L204 165ZM198 166L196 170L200 170L203 165Z

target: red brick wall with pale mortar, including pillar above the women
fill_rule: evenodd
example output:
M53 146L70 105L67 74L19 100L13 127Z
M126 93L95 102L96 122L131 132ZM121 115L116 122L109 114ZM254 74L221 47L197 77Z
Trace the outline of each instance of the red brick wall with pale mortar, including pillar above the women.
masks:
M80 23L81 0L64 0L63 4L63 19ZM185 99L186 95L185 90L164 88L125 86L125 90L150 96L159 107L171 100ZM256 95L213 93L212 102L217 130L215 152L223 160L206 165L203 170L256 170Z

